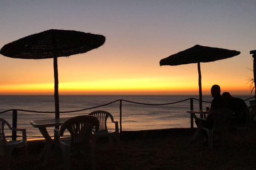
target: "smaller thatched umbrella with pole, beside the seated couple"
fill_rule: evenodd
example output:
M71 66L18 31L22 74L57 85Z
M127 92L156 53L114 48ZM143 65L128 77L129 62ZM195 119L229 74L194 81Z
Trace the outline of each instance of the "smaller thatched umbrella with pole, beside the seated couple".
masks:
M228 50L222 48L205 47L200 45L195 45L194 47L188 48L173 54L167 58L163 58L160 61L160 65L181 65L197 63L198 67L198 84L199 84L199 109L202 111L202 84L201 84L201 67L200 63L213 62L217 60L222 60L225 58L234 57L239 55L240 52L236 50Z

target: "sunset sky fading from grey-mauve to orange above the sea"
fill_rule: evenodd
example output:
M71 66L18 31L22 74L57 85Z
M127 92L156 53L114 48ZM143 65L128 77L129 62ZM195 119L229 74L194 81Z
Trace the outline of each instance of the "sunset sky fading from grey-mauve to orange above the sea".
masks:
M159 66L194 45L240 55L201 63L203 95L213 84L250 96L256 1L0 1L0 48L49 29L106 37L98 49L58 58L59 94L198 94L197 64ZM53 94L53 59L0 55L0 95ZM247 84L246 84L247 83Z

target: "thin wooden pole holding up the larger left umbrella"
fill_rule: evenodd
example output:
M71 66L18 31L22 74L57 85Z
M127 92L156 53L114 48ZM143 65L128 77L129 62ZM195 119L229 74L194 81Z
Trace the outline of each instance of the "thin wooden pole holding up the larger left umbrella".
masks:
M58 78L58 57L53 57L54 68L54 100L55 100L55 118L60 118L60 106L59 106L59 78ZM55 129L59 129L59 126L55 126Z

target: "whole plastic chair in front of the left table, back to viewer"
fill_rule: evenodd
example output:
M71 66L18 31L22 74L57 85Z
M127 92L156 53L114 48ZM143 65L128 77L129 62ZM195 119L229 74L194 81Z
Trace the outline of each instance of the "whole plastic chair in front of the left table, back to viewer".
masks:
M65 169L69 167L69 157L70 152L78 151L79 154L84 155L89 153L89 161L91 163L92 169L95 168L94 165L94 150L93 145L90 140L92 134L92 129L99 129L99 121L97 118L89 115L76 116L70 118L61 125L60 130L54 129L55 139L57 139L58 146L63 152L63 166ZM68 130L71 138L70 140L61 140L65 130Z

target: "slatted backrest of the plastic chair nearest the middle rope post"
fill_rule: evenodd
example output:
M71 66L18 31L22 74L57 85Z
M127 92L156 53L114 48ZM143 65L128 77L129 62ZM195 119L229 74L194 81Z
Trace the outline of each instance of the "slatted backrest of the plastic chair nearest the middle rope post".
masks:
M106 111L94 111L92 113L90 113L89 115L92 115L96 118L98 118L99 120L99 131L106 131L108 132L108 128L107 128L107 119L108 117L111 118L111 121L114 121L114 117Z

